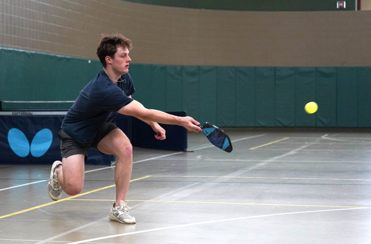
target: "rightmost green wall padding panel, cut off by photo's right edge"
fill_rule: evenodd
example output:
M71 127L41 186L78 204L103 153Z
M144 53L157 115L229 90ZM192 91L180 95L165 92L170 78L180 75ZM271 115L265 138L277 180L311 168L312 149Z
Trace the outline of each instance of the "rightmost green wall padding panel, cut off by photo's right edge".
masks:
M371 126L371 67L358 68L358 126Z

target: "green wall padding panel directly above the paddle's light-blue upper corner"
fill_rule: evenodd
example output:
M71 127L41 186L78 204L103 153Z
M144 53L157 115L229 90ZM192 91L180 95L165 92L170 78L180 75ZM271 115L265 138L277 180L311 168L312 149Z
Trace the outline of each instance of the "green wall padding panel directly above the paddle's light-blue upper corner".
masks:
M216 67L200 66L200 123L218 122L216 89Z

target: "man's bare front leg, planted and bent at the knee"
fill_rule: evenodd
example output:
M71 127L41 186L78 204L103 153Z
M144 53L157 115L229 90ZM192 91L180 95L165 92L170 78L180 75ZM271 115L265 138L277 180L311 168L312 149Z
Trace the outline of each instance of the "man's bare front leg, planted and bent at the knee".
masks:
M115 168L115 206L118 206L120 200L125 201L126 193L129 188L133 163L132 146L124 132L120 129L114 129L99 142L98 150L105 154L113 154L117 157Z

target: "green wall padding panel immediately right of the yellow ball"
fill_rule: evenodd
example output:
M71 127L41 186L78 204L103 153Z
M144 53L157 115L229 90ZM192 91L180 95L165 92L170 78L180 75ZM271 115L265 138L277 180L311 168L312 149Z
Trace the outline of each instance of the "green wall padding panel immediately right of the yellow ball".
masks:
M318 67L316 77L316 125L336 126L336 68Z

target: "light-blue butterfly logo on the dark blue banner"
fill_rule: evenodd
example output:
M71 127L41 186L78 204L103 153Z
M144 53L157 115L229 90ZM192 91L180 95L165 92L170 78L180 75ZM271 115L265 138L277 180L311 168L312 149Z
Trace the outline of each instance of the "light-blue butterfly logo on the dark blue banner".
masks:
M8 142L10 148L18 156L24 158L31 155L38 158L44 155L52 145L53 134L50 129L42 129L33 137L31 145L22 131L12 128L8 132Z

